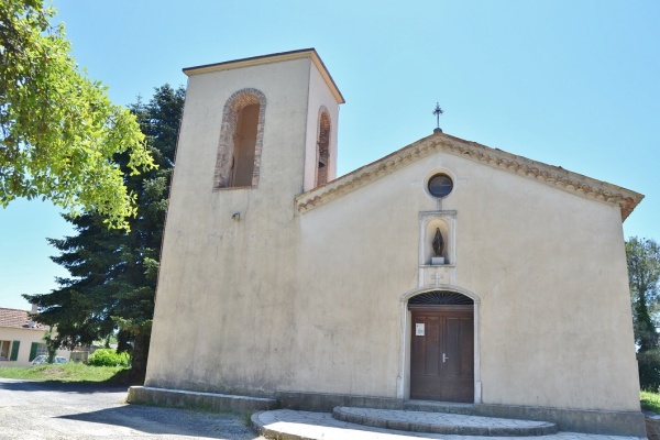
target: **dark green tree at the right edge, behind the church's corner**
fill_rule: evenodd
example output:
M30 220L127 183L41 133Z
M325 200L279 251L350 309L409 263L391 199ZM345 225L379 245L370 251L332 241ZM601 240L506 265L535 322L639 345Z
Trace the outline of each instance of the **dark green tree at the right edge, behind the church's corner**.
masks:
M657 322L660 280L660 245L651 239L634 237L626 243L635 342L639 352L658 348Z

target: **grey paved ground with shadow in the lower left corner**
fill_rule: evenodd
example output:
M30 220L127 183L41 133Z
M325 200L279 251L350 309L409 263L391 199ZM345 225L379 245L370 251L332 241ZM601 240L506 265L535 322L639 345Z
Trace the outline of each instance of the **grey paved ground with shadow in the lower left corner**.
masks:
M241 416L125 398L125 387L0 378L0 439L263 439Z

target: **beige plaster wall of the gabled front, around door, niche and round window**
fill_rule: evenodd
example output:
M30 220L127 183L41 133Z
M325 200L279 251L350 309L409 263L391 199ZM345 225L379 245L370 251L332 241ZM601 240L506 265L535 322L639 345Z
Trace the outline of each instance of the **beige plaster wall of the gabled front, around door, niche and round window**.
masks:
M290 388L394 397L406 381L399 298L433 288L417 279L433 170L455 182L442 204L457 211L450 279L480 299L482 402L638 410L618 208L448 154L300 217L308 331Z

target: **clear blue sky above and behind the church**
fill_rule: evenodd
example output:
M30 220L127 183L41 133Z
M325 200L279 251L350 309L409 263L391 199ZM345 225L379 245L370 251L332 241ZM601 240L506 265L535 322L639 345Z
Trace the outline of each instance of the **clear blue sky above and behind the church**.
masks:
M339 173L446 133L645 194L625 237L660 240L657 0L54 0L74 55L120 105L183 67L316 47L346 99ZM0 209L0 307L66 273L58 210Z

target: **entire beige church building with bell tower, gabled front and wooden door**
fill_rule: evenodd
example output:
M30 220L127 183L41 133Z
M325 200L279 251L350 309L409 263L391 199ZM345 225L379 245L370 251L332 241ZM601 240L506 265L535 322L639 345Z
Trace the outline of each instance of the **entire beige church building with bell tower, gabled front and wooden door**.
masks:
M146 387L640 432L641 195L441 132L338 178L316 51L184 72Z

